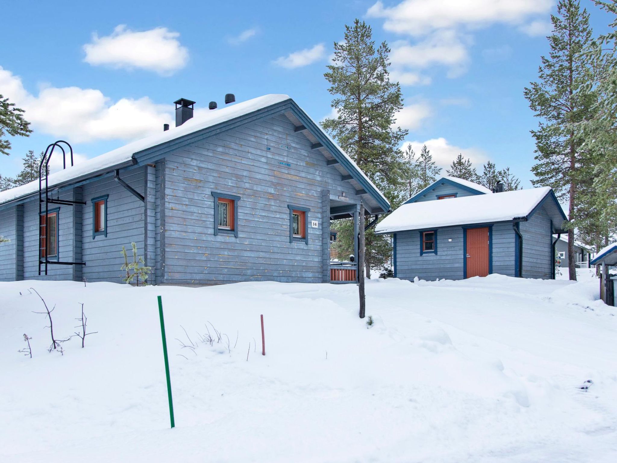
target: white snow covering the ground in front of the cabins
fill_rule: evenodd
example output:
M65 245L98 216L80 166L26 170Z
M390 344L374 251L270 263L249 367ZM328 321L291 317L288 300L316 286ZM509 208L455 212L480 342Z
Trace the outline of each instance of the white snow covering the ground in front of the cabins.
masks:
M30 287L59 338L85 303L84 349L46 351ZM617 311L597 280L370 280L366 294L371 329L355 285L0 283L0 461L616 461ZM213 346L209 323L226 335Z

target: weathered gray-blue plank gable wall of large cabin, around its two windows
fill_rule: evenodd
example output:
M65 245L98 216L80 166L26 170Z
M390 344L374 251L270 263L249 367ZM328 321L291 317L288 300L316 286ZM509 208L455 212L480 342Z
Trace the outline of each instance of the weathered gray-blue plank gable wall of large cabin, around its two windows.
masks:
M164 282L322 282L323 191L357 197L311 144L281 114L166 156ZM213 235L212 191L241 197L238 238ZM288 204L310 208L309 244L289 243Z

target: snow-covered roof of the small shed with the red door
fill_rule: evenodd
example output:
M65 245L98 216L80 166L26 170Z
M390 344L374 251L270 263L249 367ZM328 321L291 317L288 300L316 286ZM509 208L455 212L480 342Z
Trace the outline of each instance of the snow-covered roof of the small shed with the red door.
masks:
M503 193L477 194L462 198L405 203L378 223L376 233L422 230L424 228L524 220L550 198L555 231L561 231L566 216L549 186ZM549 204L549 203L547 203Z

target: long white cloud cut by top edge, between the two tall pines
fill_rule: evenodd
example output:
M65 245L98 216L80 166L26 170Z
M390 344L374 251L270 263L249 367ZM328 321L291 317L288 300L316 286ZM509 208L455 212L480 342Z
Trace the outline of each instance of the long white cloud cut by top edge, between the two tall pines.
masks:
M493 23L521 24L531 15L547 14L555 0L403 0L393 7L381 1L366 15L384 19L384 29L420 36L433 30Z

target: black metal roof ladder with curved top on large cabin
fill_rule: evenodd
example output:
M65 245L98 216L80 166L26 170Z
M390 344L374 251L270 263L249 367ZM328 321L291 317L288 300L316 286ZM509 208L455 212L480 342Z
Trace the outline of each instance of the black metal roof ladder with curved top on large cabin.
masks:
M67 168L67 152L62 145L67 146L71 155L71 167L73 167L73 148L64 140L58 140L48 145L43 157L41 158L41 164L39 164L39 275L41 275L41 265L45 266L45 275L47 275L47 267L49 264L54 265L86 265L86 262L60 262L50 261L48 257L49 249L49 204L62 204L63 206L75 206L75 204L86 204L85 201L69 201L68 199L49 198L49 160L51 155L54 154L54 149L58 148L62 151L62 169ZM44 165L44 167L43 167ZM45 188L43 189L43 178L45 180ZM44 198L43 198L44 191ZM43 204L44 217L43 220ZM60 220L56 216L56 228L60 226ZM44 233L44 234L43 234ZM56 243L58 246L58 243Z

